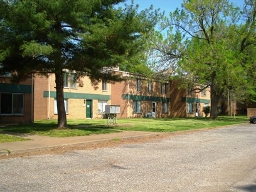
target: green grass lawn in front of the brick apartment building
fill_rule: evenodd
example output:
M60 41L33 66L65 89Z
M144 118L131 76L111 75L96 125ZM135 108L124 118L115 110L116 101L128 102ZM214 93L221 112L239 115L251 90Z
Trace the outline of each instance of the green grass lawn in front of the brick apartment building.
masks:
M8 125L0 127L0 142L22 140L21 137L9 136L6 132L37 134L51 137L88 136L123 131L173 132L189 129L203 129L248 123L246 116L220 116L218 120L209 118L164 118L164 119L117 119L117 124L107 125L107 119L68 120L68 129L56 129L56 120L36 120L34 124Z

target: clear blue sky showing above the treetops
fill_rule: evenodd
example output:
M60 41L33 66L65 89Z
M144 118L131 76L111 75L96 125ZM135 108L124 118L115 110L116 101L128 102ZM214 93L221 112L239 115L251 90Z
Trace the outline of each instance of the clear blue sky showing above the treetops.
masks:
M131 4L131 0L127 0L125 3ZM230 0L237 6L242 6L243 0ZM134 4L139 4L139 9L146 9L151 6L154 6L154 9L160 8L161 12L165 11L166 14L169 14L171 11L174 11L176 8L180 8L183 0L134 0Z

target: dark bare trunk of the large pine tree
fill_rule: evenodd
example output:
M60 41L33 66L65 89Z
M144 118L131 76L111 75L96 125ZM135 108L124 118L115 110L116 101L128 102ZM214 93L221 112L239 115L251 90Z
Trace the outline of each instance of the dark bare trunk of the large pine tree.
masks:
M55 73L56 102L58 110L58 129L67 129L67 115L64 104L62 70Z

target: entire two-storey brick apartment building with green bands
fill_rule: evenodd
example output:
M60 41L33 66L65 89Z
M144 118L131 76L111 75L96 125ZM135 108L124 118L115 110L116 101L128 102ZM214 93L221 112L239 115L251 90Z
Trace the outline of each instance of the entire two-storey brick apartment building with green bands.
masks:
M90 78L77 82L75 73L63 71L67 119L103 119L105 105L119 105L117 118L201 117L210 105L210 90L196 93L179 89L178 81L163 82L143 75L111 70L123 80L114 84ZM28 123L34 119L57 119L55 75L35 75L18 84L11 75L0 77L0 122Z

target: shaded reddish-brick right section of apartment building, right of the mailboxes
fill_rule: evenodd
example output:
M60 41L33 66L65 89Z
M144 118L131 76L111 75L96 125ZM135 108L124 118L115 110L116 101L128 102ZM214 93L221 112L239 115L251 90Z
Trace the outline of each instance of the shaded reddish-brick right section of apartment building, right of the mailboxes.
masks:
M146 77L120 72L124 81L111 89L111 104L120 105L119 118L202 117L203 107L210 105L210 89L196 92L179 88L179 81L148 80Z

